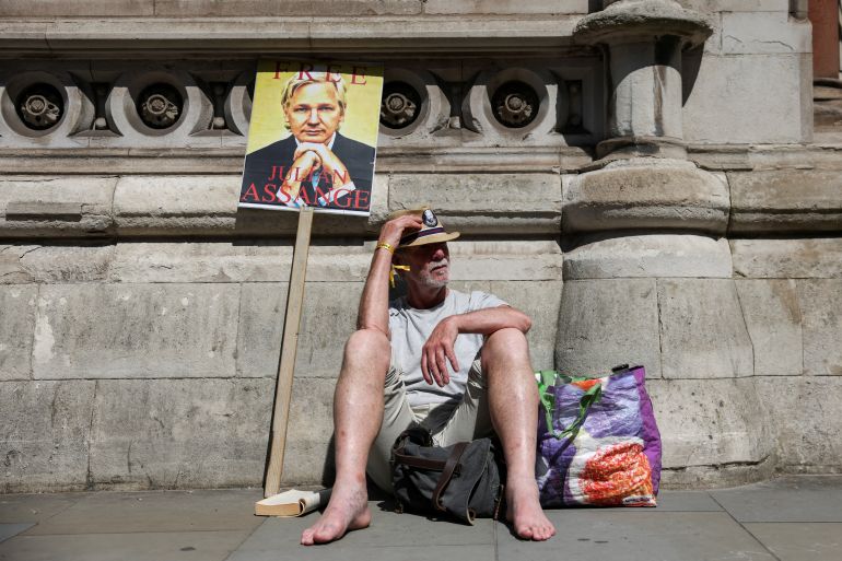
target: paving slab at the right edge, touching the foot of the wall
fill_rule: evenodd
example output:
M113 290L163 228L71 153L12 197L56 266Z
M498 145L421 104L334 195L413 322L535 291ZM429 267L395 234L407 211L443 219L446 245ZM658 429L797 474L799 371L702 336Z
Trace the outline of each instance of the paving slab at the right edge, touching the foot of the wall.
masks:
M782 478L711 495L741 523L842 523L842 476Z

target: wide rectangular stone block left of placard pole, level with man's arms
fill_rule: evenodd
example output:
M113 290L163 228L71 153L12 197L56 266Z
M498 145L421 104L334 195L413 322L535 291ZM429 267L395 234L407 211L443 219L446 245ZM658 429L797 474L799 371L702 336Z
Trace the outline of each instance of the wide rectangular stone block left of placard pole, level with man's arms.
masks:
M235 373L236 284L47 284L35 378L224 377Z

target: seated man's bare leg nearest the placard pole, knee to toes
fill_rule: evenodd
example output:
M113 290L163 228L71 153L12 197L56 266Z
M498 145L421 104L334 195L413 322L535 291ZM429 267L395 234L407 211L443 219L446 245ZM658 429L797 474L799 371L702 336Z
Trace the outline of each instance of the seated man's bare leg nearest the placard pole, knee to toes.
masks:
M389 358L389 340L375 329L355 331L346 343L334 396L334 493L321 517L301 535L305 546L334 541L371 522L365 463L383 420L383 383Z

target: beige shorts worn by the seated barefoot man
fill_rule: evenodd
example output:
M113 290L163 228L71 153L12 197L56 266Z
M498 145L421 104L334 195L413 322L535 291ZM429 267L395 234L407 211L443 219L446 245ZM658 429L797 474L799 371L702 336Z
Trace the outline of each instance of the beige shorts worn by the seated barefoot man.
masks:
M390 366L383 388L383 424L369 453L366 471L372 481L384 491L391 492L391 446L400 433L411 425L426 426L438 446L490 435L493 428L486 389L482 365L477 358L471 364L460 401L412 407L401 373Z

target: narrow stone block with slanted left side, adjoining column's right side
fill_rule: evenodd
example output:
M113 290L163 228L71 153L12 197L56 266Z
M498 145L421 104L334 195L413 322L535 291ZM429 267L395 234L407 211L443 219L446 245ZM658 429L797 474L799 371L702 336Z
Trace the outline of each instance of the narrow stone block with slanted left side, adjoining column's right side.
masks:
M804 372L802 312L793 280L736 281L755 357L755 375Z

